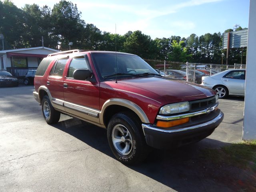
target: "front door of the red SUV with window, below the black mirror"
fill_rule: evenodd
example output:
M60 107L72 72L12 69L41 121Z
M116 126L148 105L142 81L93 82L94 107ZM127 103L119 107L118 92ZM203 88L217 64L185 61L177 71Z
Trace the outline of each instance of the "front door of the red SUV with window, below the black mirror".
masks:
M86 54L74 56L64 76L64 107L66 112L78 117L98 121L100 110L99 104L99 82L94 76L88 80L75 80L73 73L76 69L91 70Z

